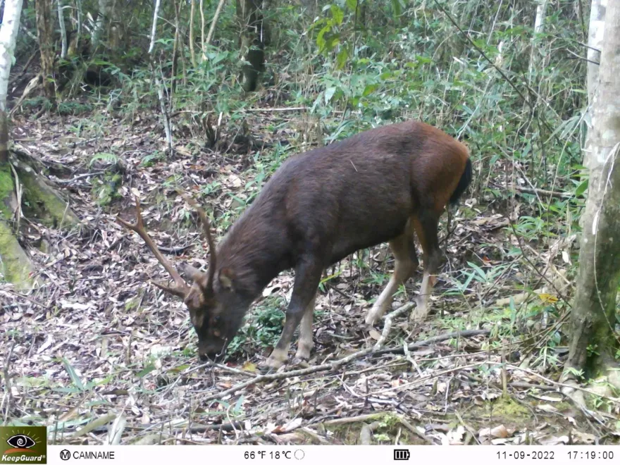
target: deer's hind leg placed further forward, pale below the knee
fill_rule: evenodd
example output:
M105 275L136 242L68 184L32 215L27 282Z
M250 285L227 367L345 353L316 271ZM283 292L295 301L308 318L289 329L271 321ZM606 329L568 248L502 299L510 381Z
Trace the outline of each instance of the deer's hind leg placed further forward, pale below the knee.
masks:
M374 325L379 321L392 304L392 299L399 285L411 278L418 267L418 256L414 244L414 226L411 220L407 221L402 235L390 240L390 250L392 250L395 259L394 273L392 273L390 282L387 283L375 304L368 311L368 315L366 315L366 324L368 325Z

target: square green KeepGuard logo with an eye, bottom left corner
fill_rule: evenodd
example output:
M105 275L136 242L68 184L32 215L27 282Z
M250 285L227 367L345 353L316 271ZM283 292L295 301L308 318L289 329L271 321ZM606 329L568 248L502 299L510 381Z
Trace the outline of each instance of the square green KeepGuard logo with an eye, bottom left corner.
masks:
M47 464L45 426L0 426L0 464Z

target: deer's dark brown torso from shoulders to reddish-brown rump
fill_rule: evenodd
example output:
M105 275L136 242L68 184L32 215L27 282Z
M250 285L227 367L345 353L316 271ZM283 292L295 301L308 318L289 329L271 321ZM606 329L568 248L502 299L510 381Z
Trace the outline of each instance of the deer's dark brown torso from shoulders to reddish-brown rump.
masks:
M292 156L247 213L293 254L320 250L334 262L401 234L420 206L447 203L466 159L463 144L429 125L384 126Z

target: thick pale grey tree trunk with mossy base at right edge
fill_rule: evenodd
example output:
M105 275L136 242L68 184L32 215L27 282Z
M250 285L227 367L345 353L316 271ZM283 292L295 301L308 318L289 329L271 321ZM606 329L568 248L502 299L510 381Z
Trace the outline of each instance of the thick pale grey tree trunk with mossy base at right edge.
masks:
M620 4L609 2L599 84L592 105L590 183L572 309L569 368L611 375L620 284Z

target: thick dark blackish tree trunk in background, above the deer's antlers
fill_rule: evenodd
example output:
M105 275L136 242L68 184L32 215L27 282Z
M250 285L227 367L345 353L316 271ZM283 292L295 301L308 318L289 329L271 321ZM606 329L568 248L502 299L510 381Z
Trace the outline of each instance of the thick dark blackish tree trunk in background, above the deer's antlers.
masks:
M237 0L237 20L241 27L240 52L242 87L245 92L256 90L259 73L265 61L266 30L260 0Z

